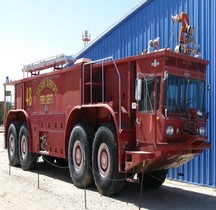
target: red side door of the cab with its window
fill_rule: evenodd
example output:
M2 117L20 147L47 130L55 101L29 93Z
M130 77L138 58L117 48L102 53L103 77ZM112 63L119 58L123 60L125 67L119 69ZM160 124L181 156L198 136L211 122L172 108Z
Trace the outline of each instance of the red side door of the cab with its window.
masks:
M156 113L160 101L160 77L148 76L136 80L136 134L142 143L153 143L156 138Z

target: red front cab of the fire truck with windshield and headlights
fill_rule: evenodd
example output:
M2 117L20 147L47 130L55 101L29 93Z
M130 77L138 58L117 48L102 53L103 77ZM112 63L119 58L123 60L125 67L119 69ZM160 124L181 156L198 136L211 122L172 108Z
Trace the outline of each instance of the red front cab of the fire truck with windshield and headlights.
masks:
M154 171L179 167L210 147L205 109L208 61L169 50L151 56L145 65L138 62L136 145L152 155L145 168Z

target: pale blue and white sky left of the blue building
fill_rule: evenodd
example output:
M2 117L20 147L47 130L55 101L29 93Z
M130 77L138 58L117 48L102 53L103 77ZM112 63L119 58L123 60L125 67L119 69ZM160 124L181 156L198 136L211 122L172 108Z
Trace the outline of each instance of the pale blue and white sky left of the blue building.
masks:
M3 83L22 79L22 67L83 49L142 0L0 0L0 101Z

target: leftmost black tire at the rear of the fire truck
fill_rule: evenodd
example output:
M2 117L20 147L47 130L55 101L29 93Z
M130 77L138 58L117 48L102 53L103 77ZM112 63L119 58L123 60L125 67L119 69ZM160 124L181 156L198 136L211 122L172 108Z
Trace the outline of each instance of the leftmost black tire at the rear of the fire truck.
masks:
M9 164L11 166L19 166L19 149L18 136L20 125L18 122L12 122L7 133L7 151Z

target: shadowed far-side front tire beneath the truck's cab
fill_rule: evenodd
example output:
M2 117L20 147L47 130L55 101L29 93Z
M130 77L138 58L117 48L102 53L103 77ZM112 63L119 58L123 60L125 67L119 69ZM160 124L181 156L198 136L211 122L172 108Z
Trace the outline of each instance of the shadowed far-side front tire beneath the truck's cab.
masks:
M165 181L167 170L159 170L144 173L143 187L159 188ZM142 172L138 174L140 183L142 183Z

